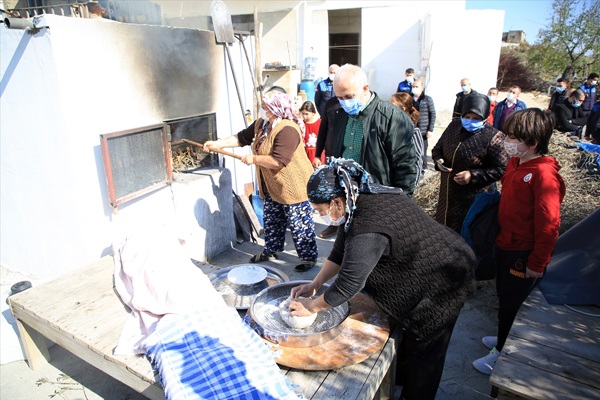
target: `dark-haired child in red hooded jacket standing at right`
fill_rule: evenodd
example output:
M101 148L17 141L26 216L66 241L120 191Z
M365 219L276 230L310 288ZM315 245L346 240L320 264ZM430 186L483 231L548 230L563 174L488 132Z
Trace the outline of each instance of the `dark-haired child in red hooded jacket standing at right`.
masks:
M565 183L558 162L545 154L554 129L552 114L539 108L513 113L504 124L511 157L502 177L496 237L498 336L486 336L491 352L473 362L490 375L519 311L550 262L558 239Z

